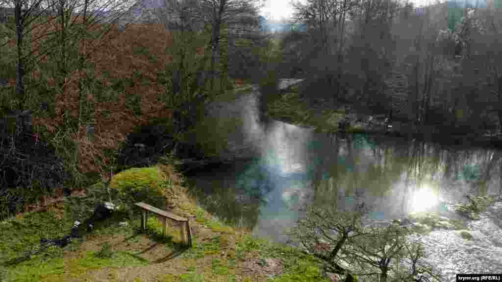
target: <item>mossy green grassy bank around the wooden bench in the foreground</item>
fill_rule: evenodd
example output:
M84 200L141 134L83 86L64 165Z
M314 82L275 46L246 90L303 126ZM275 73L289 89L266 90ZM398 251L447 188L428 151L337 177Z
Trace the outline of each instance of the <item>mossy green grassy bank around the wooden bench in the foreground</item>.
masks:
M323 280L312 256L225 226L178 193L172 211L192 218L189 249L180 245L176 228L162 236L155 217L141 232L139 213L129 218L117 212L66 247L37 251L41 238L67 235L78 215L89 214L89 195L71 196L0 223L0 281Z

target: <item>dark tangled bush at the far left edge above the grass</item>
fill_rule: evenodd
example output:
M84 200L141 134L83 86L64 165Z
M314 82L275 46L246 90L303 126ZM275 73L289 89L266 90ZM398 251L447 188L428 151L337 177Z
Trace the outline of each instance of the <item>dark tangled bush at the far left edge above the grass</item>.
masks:
M0 220L71 179L54 146L19 120L0 119Z

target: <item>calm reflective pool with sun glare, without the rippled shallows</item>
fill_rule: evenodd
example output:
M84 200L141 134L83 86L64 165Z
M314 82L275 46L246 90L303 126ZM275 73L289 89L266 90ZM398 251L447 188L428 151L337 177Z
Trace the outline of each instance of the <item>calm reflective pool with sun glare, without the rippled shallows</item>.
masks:
M261 156L190 179L211 212L232 223L244 218L245 226L276 240L284 239L277 226L290 227L304 201L341 208L355 195L373 203L372 219L388 220L445 212L466 194L501 191L500 152L384 136L341 139L282 122L272 128Z

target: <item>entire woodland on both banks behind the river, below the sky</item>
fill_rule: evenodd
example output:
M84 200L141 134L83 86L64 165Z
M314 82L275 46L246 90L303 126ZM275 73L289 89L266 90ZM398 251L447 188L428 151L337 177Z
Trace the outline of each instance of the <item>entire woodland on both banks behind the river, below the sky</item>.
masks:
M189 137L204 107L279 78L304 79L313 108L350 104L442 134L500 128L499 1L308 0L280 32L258 1L2 6L2 217L167 153L204 155ZM141 144L143 163L131 157Z

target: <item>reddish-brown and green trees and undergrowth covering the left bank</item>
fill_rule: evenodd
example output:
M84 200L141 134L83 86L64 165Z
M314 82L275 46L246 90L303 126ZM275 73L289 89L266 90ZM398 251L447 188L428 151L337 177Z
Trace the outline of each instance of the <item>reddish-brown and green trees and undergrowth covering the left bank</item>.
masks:
M65 3L58 5L66 7ZM44 152L57 159L42 161L31 151L12 153L11 147L23 146L17 142L30 135L2 139L2 152L8 153L0 160L0 172L10 176L5 181L1 177L2 208L8 201L17 206L13 197L24 199L21 206L32 204L42 193L38 190L54 194L47 187L61 186L61 179L68 180L64 187L71 192L99 179L106 181L124 168L150 166L173 150L194 157L196 146L181 144L191 141L185 133L194 131L206 101L233 88L229 64L237 61L240 66L240 54L249 49L245 47L256 45L251 40L229 50L229 42L223 40L232 34L227 32L226 18L214 26L205 18L187 17L181 29L166 29L162 19L148 23L138 19L124 30L116 24L121 21L107 18L121 13L83 18L74 8L70 5L63 9L67 14L55 17L27 13L22 44L17 44L21 38L14 22L0 23L0 116L4 110L37 109L33 125L40 135L39 147L41 140L47 140L52 151ZM97 7L88 8L92 14ZM211 50L211 29L222 30L219 54ZM25 74L19 81L24 85L18 83L23 91L16 93L16 69L21 63ZM157 119L169 126L145 125Z

